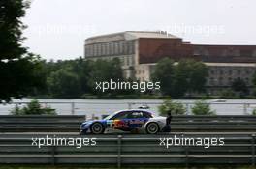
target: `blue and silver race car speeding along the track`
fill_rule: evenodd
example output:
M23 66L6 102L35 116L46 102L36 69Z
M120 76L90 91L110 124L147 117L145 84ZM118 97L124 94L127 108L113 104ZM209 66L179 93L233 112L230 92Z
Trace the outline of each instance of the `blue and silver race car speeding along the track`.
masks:
M147 110L121 110L103 120L83 122L80 126L80 134L114 131L156 134L165 127L165 123L165 117L156 117Z

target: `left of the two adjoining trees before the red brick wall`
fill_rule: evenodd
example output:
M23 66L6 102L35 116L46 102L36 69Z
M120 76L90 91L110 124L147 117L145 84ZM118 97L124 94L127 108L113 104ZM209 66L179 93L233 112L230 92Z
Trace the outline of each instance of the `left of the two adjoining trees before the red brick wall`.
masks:
M169 58L160 60L156 64L152 79L160 82L163 95L172 96L174 94L174 61Z

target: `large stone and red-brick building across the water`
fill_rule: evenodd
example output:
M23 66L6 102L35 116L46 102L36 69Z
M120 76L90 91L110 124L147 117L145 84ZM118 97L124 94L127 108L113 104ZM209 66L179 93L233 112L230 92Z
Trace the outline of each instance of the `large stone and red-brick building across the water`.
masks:
M149 81L155 64L164 57L191 58L208 65L210 93L229 88L236 78L251 87L256 69L256 45L204 45L185 42L164 32L127 31L85 40L86 59L119 58L126 78Z

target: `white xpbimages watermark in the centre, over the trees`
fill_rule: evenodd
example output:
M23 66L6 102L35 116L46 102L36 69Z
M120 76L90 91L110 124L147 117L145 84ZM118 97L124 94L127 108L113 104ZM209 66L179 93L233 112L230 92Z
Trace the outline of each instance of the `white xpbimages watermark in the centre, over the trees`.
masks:
M129 81L104 81L104 82L95 82L95 89L106 92L108 90L139 90L144 93L148 90L159 90L161 88L160 82L129 82Z

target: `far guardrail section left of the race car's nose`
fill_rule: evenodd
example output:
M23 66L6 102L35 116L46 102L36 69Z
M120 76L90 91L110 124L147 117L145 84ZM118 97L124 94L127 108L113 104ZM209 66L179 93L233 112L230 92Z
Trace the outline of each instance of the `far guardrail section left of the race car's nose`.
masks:
M79 132L85 120L85 116L78 115L0 115L0 132Z

